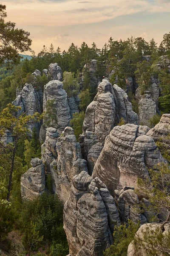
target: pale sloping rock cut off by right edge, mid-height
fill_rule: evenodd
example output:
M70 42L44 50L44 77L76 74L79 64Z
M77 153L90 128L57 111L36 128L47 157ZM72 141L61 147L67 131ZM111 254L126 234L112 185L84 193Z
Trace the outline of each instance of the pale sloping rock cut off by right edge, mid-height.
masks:
M147 132L147 136L152 137L155 141L164 139L166 143L170 144L170 114L163 114L160 122Z

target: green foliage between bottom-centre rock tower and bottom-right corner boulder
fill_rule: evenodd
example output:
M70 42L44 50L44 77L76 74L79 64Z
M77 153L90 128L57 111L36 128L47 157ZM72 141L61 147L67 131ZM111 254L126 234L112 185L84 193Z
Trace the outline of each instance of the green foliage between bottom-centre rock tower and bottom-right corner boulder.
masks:
M113 245L103 252L104 256L127 256L127 248L133 241L139 224L128 221L128 224L115 226L113 232Z

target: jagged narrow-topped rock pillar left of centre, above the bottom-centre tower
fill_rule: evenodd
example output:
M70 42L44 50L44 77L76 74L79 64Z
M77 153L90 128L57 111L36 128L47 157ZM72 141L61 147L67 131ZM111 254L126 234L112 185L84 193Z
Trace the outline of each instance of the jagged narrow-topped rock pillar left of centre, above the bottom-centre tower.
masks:
M88 172L86 160L82 159L81 147L76 141L74 130L66 127L56 144L57 160L51 162L53 190L65 203L70 193L74 175Z

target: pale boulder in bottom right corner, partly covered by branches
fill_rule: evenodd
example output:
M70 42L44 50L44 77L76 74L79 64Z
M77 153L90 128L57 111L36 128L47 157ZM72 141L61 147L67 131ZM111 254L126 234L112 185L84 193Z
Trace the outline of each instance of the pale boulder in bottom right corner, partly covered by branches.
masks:
M147 250L151 250L153 252L153 248L157 249L156 250L156 255L161 256L162 252L164 250L164 253L169 254L169 244L167 244L167 248L163 248L162 244L157 244L157 243L153 243L150 244L150 242L148 242L146 240L146 236L144 237L145 233L159 233L161 231L162 235L167 235L167 233L170 233L170 223L167 223L164 225L164 229L161 228L162 224L144 224L142 225L139 230L136 232L136 238L139 241L142 241L142 243L139 243L141 246L137 247L137 250L135 248L135 245L133 244L133 242L131 242L128 246L127 249L127 256L147 256L148 253L146 251Z

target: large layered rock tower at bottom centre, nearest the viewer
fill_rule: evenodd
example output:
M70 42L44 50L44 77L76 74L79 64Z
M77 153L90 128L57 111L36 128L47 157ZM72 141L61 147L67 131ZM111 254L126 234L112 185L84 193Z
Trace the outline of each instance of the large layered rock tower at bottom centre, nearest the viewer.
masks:
M102 256L113 242L114 225L120 224L107 187L87 172L74 176L63 218L71 256Z

